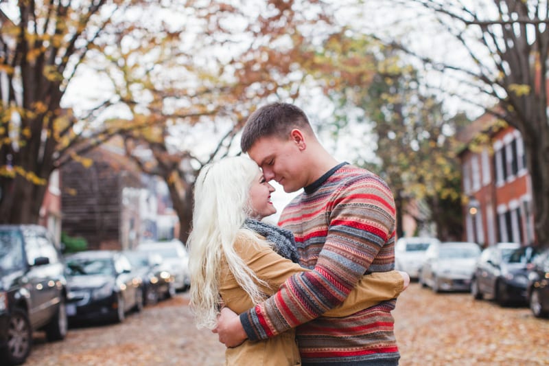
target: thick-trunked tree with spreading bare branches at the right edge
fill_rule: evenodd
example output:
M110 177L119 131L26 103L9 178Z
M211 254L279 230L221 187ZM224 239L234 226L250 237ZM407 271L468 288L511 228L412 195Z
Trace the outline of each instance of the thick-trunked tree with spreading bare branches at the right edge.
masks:
M412 45L387 44L418 56L434 71L452 73L473 93L460 98L479 105L471 95L495 100L489 113L522 133L533 188L535 233L549 245L549 121L547 67L549 3L547 1L413 0L434 14L442 32L450 34L469 56L469 64L440 61Z

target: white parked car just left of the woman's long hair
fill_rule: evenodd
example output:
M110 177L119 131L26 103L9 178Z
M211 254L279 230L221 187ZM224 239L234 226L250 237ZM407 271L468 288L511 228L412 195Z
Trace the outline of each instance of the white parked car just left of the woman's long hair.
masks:
M189 275L189 252L180 240L167 242L143 242L137 246L137 251L159 254L163 262L175 277L176 290L187 290L191 285Z

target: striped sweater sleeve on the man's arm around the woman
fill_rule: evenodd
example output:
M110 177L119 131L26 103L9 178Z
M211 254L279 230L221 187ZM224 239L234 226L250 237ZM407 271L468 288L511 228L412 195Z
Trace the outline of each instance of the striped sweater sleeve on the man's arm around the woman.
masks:
M269 299L240 314L248 339L267 339L342 304L369 269L394 268L395 203L365 180L330 198L329 227L313 271L296 273Z

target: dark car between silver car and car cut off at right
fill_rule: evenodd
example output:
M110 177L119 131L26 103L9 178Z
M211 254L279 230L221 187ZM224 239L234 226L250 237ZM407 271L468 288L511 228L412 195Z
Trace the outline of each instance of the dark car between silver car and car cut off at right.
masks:
M480 254L471 279L471 295L482 299L487 295L500 305L526 302L528 265L535 255L533 247L501 242L487 247Z

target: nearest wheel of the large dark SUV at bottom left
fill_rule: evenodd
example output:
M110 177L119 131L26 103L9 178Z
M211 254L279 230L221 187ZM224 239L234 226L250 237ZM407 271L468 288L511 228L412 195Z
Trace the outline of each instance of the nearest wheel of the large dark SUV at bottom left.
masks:
M15 308L8 325L8 344L1 350L2 359L8 365L24 363L32 346L32 329L27 313Z

